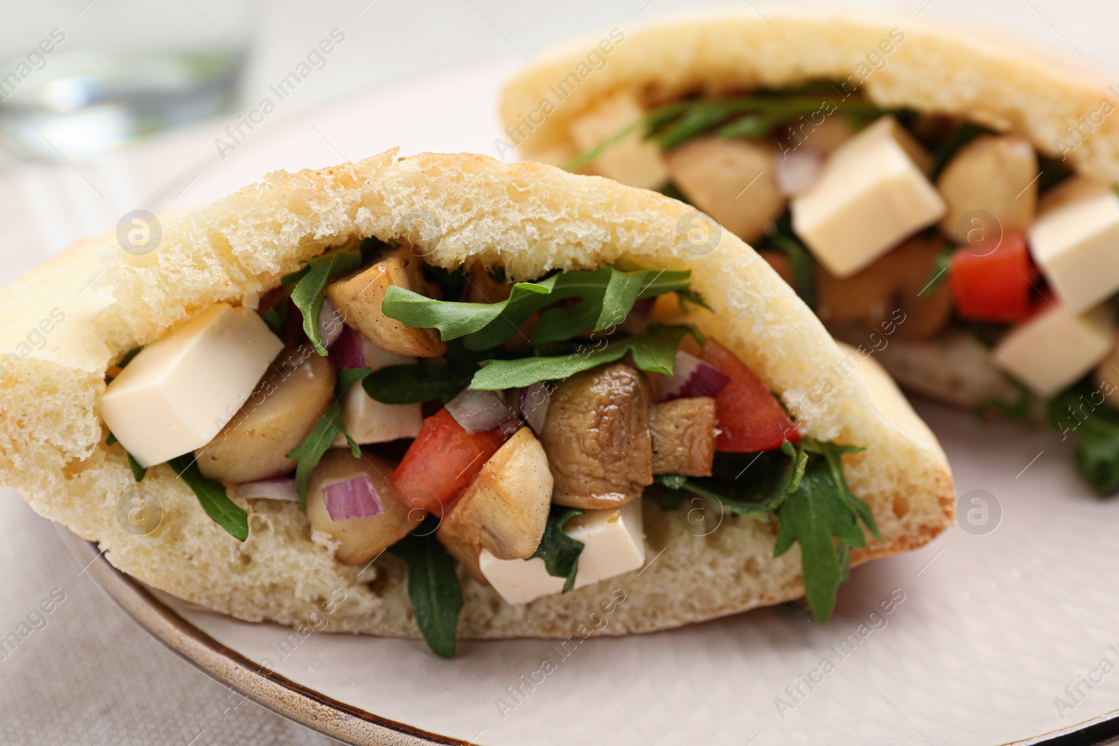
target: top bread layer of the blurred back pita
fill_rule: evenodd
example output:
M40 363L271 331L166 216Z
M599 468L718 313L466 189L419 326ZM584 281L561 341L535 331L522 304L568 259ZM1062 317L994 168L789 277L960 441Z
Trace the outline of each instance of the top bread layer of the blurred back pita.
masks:
M549 86L580 64L589 70L587 51L605 35L568 41L506 84L499 114L502 124L520 125L526 136L517 135L519 142L513 144L526 158L558 164L574 155L571 121L618 91L665 102L693 93L843 81L859 65L873 69L867 55L874 51L885 66L866 75L859 86L869 101L1014 132L1049 155L1062 153L1060 141L1074 144L1068 128L1084 120L1091 131L1069 153L1071 164L1089 176L1119 181L1119 117L1099 114L1104 100L1119 107L1117 95L1099 70L1050 58L1035 48L924 19L838 8L721 8L621 30L626 38L604 56L605 66L590 72L563 101ZM892 30L905 38L883 55L877 46L890 41ZM530 122L529 132L521 117L538 111L545 98L555 111L538 125ZM1102 122L1096 125L1092 119Z

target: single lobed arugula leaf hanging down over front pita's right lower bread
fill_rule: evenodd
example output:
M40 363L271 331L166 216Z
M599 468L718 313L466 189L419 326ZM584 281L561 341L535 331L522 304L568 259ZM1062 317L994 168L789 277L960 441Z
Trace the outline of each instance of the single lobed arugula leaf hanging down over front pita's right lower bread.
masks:
M866 539L854 514L837 494L825 464L809 464L797 491L777 510L778 529L773 556L800 544L800 564L805 596L812 616L822 624L835 608L836 593L843 580L841 549L833 537L848 547L864 547Z

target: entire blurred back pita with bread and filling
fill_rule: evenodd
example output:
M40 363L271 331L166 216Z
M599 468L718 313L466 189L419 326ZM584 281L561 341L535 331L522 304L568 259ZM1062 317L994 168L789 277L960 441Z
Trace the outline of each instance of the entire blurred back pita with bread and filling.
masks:
M1100 70L1036 47L787 7L568 43L500 104L509 148L694 204L904 388L1035 421L1055 402L1057 428L1102 443L1078 468L1104 494L1119 491L1116 110Z

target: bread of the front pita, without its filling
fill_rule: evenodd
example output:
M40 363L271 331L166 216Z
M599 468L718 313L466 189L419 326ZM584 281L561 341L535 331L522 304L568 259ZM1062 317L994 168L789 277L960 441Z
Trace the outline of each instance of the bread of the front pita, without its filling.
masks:
M873 361L855 365L854 374L834 367L844 365L841 353L819 321L734 236L690 256L677 242L689 208L660 195L537 163L395 155L270 174L169 221L147 258L111 238L87 242L0 291L0 349L17 349L51 309L65 313L47 344L0 383L0 482L43 516L97 540L116 567L181 598L244 620L301 624L329 613L331 631L416 636L399 561L386 555L364 570L336 563L292 503L233 495L250 514L251 535L241 544L160 465L139 489L161 503L162 523L149 536L125 531L117 510L137 485L120 446L103 445L96 402L109 363L135 343L211 303L278 285L328 246L358 236L401 239L420 219L438 223L442 238L414 246L443 266L481 261L526 278L629 253L690 268L693 286L723 320L720 339L783 393L803 432L867 446L845 469L884 541L872 540L855 563L921 546L952 520L951 478L929 429ZM83 290L98 255L104 272ZM825 388L830 393L818 395ZM708 527L718 523L713 518ZM802 594L799 553L773 559L770 526L725 517L717 530L693 536L703 531L647 506L646 531L643 572L524 608L463 574L460 635L583 634L598 626L591 614L611 601L609 625L594 633L645 632Z

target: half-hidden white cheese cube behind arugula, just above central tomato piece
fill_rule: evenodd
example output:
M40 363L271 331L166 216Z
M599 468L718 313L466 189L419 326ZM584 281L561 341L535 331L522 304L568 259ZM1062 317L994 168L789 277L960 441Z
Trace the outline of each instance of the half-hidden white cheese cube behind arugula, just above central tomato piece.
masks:
M365 356L366 367L373 370L416 361L416 358L405 358L383 350L365 337L361 337L361 352ZM423 425L422 407L420 403L383 404L366 394L361 384L355 384L342 397L342 422L346 423L346 432L359 445L387 443L420 434L420 427ZM346 437L338 433L335 446L345 445Z

